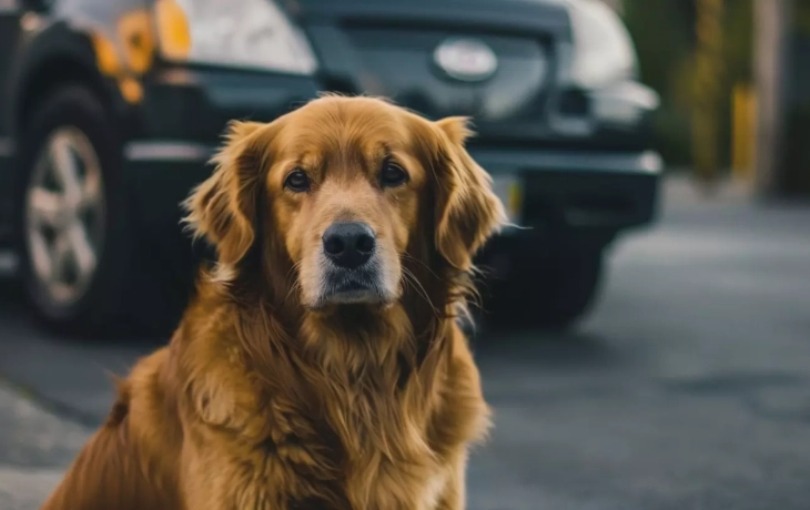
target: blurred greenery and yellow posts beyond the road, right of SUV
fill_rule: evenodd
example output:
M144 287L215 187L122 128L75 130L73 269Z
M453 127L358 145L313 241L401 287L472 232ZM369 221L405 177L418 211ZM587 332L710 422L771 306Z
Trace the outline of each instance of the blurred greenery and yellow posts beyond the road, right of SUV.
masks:
M808 194L810 4L755 0L611 2L661 94L656 146L702 184Z

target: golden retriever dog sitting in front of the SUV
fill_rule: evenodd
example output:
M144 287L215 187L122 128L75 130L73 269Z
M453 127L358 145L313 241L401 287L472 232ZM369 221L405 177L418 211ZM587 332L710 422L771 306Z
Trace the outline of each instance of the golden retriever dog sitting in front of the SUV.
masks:
M44 508L464 508L489 412L455 318L505 218L468 134L373 98L233 123L185 203L216 264Z

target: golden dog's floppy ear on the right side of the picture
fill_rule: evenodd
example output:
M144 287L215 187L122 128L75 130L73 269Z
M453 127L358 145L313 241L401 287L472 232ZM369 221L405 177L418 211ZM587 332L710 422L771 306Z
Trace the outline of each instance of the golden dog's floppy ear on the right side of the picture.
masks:
M469 271L473 255L506 223L492 177L464 147L473 133L466 118L434 123L438 131L436 247L454 267Z

